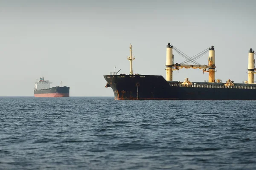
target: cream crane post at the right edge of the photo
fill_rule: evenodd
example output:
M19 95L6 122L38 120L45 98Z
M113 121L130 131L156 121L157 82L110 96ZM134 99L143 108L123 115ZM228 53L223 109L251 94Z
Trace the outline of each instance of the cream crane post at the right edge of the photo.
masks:
M255 70L254 51L252 50L252 48L250 48L249 54L248 54L248 84L254 83L254 70Z

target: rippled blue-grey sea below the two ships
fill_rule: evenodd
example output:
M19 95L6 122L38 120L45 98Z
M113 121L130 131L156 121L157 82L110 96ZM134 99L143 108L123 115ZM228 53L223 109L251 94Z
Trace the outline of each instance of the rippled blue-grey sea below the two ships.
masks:
M0 97L0 170L256 170L255 101Z

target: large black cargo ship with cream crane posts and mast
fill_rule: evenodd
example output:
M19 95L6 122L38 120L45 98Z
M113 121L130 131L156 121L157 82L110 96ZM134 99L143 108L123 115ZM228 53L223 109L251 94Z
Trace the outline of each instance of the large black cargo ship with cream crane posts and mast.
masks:
M167 48L172 48L168 44ZM169 53L170 49L167 49ZM107 81L105 87L111 87L116 100L256 100L256 84L254 84L254 51L249 51L248 81L243 83L234 83L230 79L222 83L220 79L215 78L215 61L213 46L209 48L210 56L208 65L182 65L173 64L173 54L167 54L167 58L172 57L172 61L166 61L166 76L139 75L133 74L132 65L130 74L113 73L105 75ZM131 46L130 46L131 51ZM131 57L130 59L134 59ZM191 58L189 58L191 59ZM131 61L131 60L130 60ZM197 67L198 66L198 67ZM206 82L190 82L188 78L184 82L172 81L172 71L182 67L192 67L203 69L203 72L209 72L209 80ZM170 68L170 69L168 69ZM212 69L212 73L211 70Z

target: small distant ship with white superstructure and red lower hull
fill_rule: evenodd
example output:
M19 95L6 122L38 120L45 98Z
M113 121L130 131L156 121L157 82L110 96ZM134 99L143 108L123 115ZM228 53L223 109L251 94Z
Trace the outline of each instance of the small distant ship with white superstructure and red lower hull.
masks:
M35 80L35 97L69 97L70 87L62 87L61 82L61 87L56 86L50 88L50 84L52 84L52 82L49 82L49 80L44 80L44 77L40 77L39 80Z

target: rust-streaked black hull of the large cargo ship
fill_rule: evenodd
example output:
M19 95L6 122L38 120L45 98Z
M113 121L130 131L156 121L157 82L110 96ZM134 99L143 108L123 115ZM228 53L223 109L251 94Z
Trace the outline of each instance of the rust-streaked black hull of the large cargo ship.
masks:
M104 78L116 100L256 100L256 85L237 84L225 88L224 83L214 83L215 87L221 87L176 87L162 76L106 75Z

